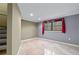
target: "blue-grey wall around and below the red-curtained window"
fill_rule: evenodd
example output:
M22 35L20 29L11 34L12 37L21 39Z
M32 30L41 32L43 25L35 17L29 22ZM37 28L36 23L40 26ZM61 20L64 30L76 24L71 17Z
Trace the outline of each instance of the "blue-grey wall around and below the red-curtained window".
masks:
M65 17L65 23L65 34L58 31L45 31L44 35L42 35L41 31L42 25L39 23L38 36L71 44L79 44L79 15Z

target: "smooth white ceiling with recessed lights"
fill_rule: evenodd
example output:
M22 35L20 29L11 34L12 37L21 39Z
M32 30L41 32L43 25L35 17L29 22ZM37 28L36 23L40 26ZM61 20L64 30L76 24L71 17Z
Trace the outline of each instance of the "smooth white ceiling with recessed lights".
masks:
M78 3L19 3L18 6L22 18L33 22L79 14Z

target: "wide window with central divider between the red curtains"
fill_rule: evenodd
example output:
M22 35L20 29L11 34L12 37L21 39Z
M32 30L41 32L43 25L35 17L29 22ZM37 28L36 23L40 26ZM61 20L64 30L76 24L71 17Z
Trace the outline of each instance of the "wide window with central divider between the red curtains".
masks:
M51 21L45 23L45 31L61 31L62 21Z

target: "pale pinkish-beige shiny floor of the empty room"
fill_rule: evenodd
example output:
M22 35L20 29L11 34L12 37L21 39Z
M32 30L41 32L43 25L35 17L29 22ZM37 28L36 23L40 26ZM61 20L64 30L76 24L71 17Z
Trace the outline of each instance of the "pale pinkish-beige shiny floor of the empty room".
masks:
M18 55L79 55L79 47L43 38L32 38L22 41Z

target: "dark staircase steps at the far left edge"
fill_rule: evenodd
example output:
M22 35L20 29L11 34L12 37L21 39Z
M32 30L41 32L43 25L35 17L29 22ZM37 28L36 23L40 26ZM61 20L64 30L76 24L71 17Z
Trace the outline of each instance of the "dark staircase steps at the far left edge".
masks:
M0 26L0 50L6 50L7 27Z

